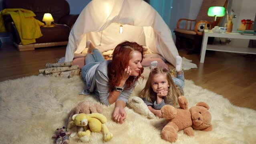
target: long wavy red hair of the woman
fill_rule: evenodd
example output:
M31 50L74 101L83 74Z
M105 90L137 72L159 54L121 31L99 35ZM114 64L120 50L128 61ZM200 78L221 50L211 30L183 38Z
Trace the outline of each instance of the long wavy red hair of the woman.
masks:
M115 86L119 86L122 80L122 72L129 66L129 61L131 59L132 52L137 51L141 53L141 57L143 59L143 47L136 42L122 42L115 47L113 52L113 60L108 65L108 77L109 77L109 92L115 88ZM142 61L141 59L141 61ZM139 73L139 76L134 78L134 76L130 76L125 84L126 89L131 89L134 82L136 82L139 77L142 77L141 74L143 73L143 67Z

